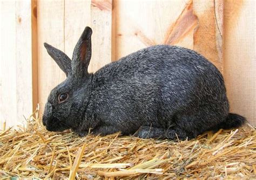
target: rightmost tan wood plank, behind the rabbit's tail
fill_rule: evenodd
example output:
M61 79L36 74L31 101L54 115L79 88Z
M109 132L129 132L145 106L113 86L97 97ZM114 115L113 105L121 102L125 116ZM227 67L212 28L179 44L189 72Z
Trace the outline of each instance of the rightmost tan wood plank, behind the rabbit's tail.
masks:
M251 1L225 1L224 77L231 112L256 126L255 5Z

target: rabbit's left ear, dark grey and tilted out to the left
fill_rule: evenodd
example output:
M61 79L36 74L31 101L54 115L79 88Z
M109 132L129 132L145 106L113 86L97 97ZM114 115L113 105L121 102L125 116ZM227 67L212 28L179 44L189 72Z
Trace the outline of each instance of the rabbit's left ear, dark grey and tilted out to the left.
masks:
M64 71L66 77L71 73L71 60L66 54L55 47L44 43L44 47L46 48L48 54L52 57L53 60L57 63L57 65Z

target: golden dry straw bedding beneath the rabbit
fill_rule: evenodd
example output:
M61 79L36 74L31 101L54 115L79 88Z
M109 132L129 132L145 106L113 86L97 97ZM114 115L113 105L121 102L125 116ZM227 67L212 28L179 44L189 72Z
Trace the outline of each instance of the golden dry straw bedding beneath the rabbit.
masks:
M78 137L50 133L38 111L26 127L0 131L0 177L95 178L256 178L256 132L205 133L172 142L137 137Z

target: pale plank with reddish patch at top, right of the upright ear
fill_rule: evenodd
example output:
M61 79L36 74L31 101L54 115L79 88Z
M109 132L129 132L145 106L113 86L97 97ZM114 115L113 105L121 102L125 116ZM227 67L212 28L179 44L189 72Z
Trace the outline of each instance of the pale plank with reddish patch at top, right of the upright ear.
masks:
M92 58L89 65L90 72L96 72L100 67L116 60L113 49L116 49L112 40L115 24L112 21L113 0L91 1L91 26L92 26Z

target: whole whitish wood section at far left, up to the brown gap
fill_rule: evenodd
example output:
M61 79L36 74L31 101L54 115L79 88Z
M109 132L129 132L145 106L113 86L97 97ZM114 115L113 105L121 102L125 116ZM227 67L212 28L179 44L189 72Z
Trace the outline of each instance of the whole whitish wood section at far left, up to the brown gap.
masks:
M32 113L31 2L1 1L1 22L1 121L16 126Z

